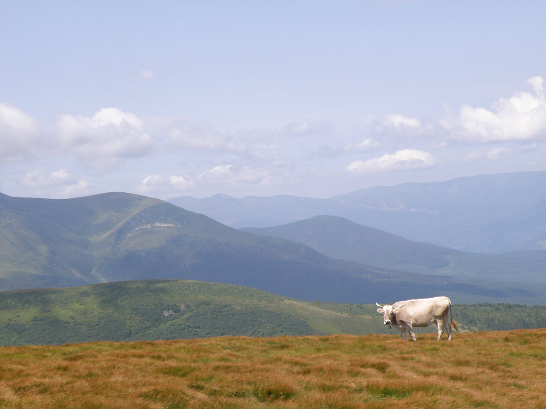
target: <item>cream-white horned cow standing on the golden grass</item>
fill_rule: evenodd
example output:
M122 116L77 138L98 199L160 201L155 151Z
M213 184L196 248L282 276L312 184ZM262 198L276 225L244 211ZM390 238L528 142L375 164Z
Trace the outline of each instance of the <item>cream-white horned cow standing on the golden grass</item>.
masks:
M379 307L377 312L383 314L383 323L398 329L403 340L406 339L406 330L412 341L415 341L413 327L428 327L434 322L438 327L438 340L442 338L443 329L446 329L448 340L451 340L452 326L459 332L457 323L451 316L451 300L447 297L410 299L383 306L376 302L376 305ZM451 321L448 320L448 314Z

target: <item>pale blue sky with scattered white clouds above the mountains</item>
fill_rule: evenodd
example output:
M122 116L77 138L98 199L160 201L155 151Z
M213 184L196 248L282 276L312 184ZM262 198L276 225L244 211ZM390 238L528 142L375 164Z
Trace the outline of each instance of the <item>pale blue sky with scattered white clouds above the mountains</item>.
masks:
M0 0L0 192L331 197L546 170L542 0Z

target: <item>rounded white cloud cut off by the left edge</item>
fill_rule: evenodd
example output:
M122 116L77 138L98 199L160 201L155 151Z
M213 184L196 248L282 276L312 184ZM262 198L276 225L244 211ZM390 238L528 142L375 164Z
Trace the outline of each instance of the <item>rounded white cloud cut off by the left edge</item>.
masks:
M38 142L39 124L13 105L0 103L0 159L21 158Z

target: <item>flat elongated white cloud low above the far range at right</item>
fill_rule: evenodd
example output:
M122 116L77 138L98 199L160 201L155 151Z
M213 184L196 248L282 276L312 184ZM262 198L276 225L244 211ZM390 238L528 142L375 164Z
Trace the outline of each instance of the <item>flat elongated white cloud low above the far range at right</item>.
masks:
M428 152L417 149L402 149L394 154L385 154L381 158L366 161L357 160L347 166L353 172L382 172L409 170L434 166L436 160Z

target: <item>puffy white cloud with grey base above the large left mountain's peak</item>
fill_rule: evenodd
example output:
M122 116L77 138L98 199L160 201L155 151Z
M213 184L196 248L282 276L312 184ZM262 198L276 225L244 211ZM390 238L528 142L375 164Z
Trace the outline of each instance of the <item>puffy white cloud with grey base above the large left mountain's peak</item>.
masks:
M63 145L98 169L146 155L152 147L144 122L117 108L103 108L91 118L63 114L57 127Z

